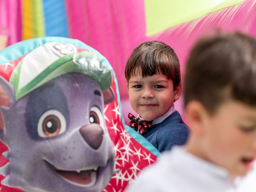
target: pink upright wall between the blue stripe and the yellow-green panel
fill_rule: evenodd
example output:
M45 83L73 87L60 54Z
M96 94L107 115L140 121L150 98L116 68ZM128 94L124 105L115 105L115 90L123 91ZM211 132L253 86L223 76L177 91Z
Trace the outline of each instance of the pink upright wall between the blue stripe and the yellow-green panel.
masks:
M143 0L66 0L71 38L99 50L112 64L118 83L126 84L124 65L138 42L145 40ZM120 89L121 97L126 89Z

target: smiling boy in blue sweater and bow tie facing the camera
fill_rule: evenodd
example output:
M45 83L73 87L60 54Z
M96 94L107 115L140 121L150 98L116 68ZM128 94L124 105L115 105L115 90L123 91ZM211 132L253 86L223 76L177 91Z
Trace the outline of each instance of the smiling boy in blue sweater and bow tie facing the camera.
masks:
M174 50L159 41L138 45L127 61L125 77L130 104L138 113L137 118L129 114L129 126L160 152L185 144L189 131L174 108L181 94L180 63Z

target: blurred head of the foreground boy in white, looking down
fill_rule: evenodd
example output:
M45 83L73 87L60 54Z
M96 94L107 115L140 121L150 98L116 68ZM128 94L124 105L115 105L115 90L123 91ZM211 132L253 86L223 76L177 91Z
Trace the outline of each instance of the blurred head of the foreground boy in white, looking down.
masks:
M240 33L199 40L186 65L184 99L187 150L245 175L256 157L256 40Z

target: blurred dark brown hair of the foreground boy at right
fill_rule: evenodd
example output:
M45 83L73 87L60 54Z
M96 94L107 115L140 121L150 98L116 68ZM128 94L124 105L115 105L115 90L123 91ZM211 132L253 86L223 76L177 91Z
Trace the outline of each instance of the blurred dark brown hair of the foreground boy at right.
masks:
M226 99L256 105L256 40L239 32L199 40L188 58L185 106L201 102L209 113Z

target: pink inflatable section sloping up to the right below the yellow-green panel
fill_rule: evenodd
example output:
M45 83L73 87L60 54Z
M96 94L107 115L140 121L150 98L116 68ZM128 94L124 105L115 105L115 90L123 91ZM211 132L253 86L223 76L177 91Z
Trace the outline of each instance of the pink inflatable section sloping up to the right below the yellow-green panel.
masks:
M246 0L232 7L218 10L206 16L202 16L191 22L170 28L161 34L150 36L147 40L160 40L174 48L180 60L181 75L183 79L184 69L188 54L196 40L216 30L247 32L256 37L256 2ZM176 109L184 116L183 100L180 98Z

